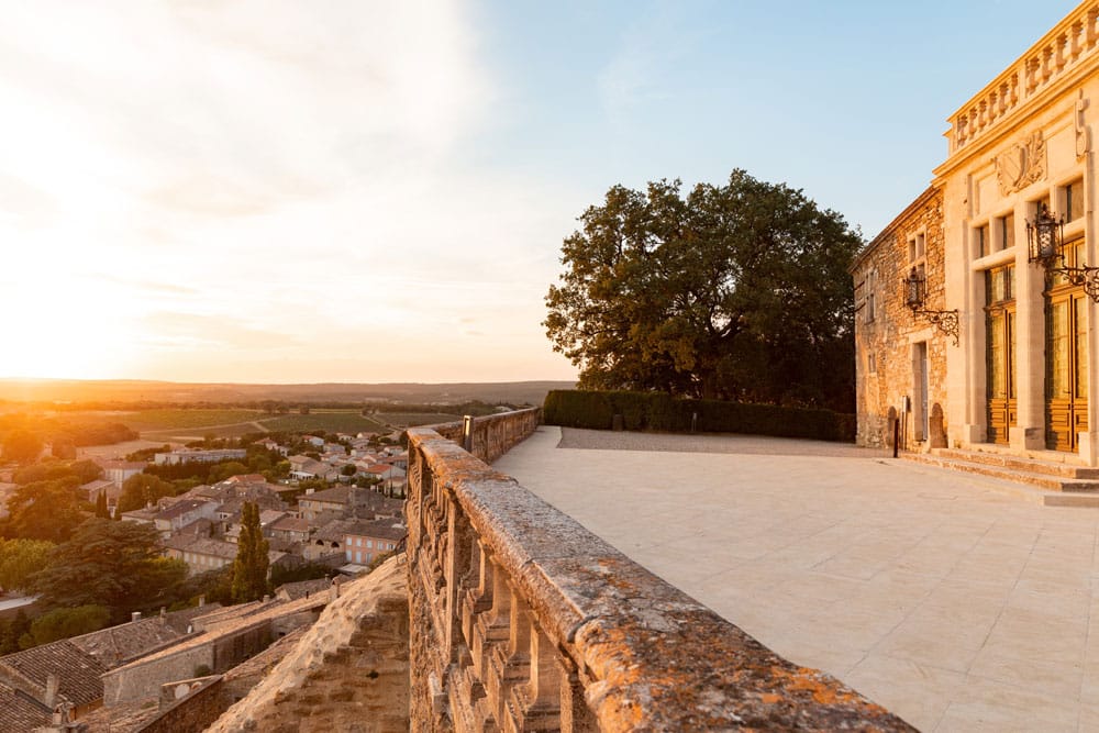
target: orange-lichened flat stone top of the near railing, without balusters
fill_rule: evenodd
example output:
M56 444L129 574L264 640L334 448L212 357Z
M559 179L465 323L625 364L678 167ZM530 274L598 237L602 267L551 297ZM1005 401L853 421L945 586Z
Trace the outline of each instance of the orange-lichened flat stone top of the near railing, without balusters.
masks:
M603 730L914 730L835 678L782 659L449 440L408 434L577 665Z

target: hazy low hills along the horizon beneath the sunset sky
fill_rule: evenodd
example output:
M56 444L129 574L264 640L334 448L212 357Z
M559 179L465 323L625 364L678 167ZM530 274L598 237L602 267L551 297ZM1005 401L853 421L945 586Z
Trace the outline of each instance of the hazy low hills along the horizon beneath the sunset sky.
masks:
M470 400L542 404L552 389L573 389L574 381L456 382L426 385L234 385L127 379L0 379L0 400L14 402L211 402L260 400L286 402L395 402L456 404Z

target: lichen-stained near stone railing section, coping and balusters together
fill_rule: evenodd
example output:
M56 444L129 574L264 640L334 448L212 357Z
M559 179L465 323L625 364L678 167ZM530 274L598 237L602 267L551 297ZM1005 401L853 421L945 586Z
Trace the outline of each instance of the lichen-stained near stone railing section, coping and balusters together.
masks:
M408 476L413 730L912 730L437 432Z

